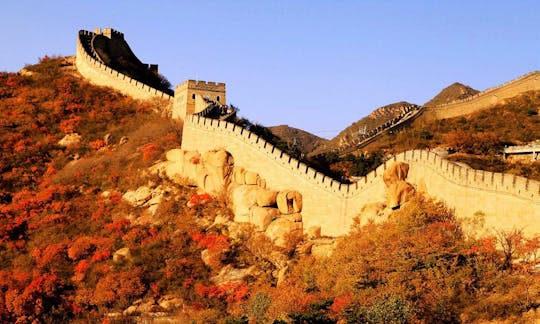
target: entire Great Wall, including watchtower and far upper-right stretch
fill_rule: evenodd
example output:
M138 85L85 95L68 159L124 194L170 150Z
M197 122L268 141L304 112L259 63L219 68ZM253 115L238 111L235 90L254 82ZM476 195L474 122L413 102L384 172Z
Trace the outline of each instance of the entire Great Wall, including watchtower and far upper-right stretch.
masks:
M360 181L343 184L282 152L256 134L233 123L208 118L205 98L220 104L225 101L225 85L188 80L178 86L174 97L148 87L105 66L84 38L93 33L79 32L76 65L91 83L109 86L136 99L166 100L173 118L184 121L182 149L200 152L225 149L234 157L235 166L257 172L267 186L276 190L292 189L303 197L304 229L320 226L328 236L348 232L356 216L370 204L384 202L386 188L382 174L392 161L409 164L407 181L430 196L455 209L460 218L483 215L485 229L523 229L540 232L540 182L509 174L473 170L450 162L430 151L407 151L395 155ZM122 35L123 39L123 35ZM437 107L421 107L406 118L381 127L373 136L403 125L413 118L451 118L469 114L529 90L540 89L540 73L532 72L466 100ZM446 109L447 108L447 109ZM372 140L372 137L365 139Z

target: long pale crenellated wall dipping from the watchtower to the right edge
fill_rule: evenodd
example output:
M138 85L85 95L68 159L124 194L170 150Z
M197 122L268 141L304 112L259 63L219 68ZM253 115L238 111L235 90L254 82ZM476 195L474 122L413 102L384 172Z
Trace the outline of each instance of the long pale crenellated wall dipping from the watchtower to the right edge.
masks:
M444 200L459 217L485 214L486 228L540 232L540 182L461 167L429 151L407 151L354 184L341 184L275 148L257 135L225 121L191 115L184 121L182 148L225 149L235 165L252 170L276 190L303 196L304 228L321 226L323 235L347 233L365 205L385 201L382 174L392 161L409 163L408 182ZM360 215L361 217L361 215Z

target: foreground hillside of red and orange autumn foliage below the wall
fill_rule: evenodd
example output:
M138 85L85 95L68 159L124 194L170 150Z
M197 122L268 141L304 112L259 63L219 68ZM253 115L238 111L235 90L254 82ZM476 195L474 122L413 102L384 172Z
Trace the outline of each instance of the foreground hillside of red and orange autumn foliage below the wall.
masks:
M0 322L538 318L538 237L476 239L418 195L342 238L278 247L222 197L163 175L182 125L159 102L92 86L71 62L0 73ZM515 105L537 116L539 96Z

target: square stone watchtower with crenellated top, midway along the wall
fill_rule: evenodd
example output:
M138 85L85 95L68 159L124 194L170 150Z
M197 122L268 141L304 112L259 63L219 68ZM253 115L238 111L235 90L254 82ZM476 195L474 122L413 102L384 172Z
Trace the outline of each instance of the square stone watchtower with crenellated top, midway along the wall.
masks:
M184 119L204 110L208 103L205 98L225 105L225 83L187 80L174 90L172 118Z

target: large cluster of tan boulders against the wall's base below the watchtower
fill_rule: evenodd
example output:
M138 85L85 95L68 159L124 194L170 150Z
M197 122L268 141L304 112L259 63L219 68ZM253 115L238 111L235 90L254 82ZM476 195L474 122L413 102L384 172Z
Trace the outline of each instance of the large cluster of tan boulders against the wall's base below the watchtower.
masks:
M266 181L256 172L234 165L227 151L204 153L173 149L166 153L167 161L152 167L172 181L190 179L202 191L211 194L226 193L235 223L249 223L256 231L265 233L275 245L285 247L293 237L303 235L302 195L298 191L276 191L266 188ZM142 189L141 189L142 191ZM145 204L147 195L130 198ZM143 197L144 196L144 197ZM235 233L235 226L229 230Z

